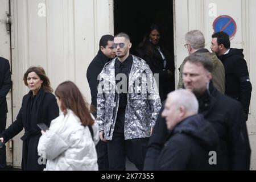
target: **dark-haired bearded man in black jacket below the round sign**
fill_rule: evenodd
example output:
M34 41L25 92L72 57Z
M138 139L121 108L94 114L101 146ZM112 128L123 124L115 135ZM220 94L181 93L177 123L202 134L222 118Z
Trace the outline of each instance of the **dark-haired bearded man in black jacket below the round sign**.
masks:
M252 88L243 49L230 48L229 35L225 32L212 35L211 49L224 64L225 94L241 102L247 121Z

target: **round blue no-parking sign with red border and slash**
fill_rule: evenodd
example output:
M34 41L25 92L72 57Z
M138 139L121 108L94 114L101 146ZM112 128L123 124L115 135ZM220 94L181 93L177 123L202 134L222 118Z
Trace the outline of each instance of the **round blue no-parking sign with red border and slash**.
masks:
M213 30L216 32L226 32L229 35L229 39L233 39L237 32L237 24L233 18L228 15L218 16L213 22Z

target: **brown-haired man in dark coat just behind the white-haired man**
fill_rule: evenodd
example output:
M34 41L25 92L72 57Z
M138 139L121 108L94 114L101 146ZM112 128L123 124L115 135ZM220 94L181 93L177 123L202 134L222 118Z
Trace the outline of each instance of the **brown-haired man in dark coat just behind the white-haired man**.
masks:
M212 62L208 57L198 54L187 57L183 69L184 86L196 95L199 101L199 113L212 123L218 133L220 140L220 150L217 153L218 169L249 170L251 151L242 106L213 87L210 82L211 71ZM160 113L162 111L163 108ZM167 135L165 119L159 114L148 144L144 169L155 169L156 158L166 142Z

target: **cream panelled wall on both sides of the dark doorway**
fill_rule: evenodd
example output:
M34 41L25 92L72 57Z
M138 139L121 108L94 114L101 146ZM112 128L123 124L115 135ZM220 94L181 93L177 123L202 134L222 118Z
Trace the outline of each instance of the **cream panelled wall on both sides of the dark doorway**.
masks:
M232 47L244 48L251 82L256 82L256 22L254 0L179 0L174 1L175 60L179 68L185 56L184 35L189 30L204 32L206 47L210 47L212 23L210 3L216 5L216 16L227 14L237 23L237 34ZM230 3L232 3L230 5ZM98 41L104 34L113 34L113 0L11 0L12 62L13 62L13 116L18 114L22 97L28 92L22 78L26 69L41 65L46 69L53 89L65 80L74 81L90 102L86 69L98 51ZM177 71L177 69L176 69ZM179 72L176 72L179 75ZM177 80L176 80L177 81ZM255 92L247 127L251 143L251 168L256 169ZM14 166L20 167L22 142L14 138Z

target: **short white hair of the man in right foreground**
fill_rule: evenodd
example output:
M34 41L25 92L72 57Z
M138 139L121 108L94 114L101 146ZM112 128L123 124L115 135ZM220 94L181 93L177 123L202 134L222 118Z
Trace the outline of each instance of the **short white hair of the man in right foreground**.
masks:
M168 98L171 97L176 107L184 106L191 114L197 114L199 109L199 103L196 96L189 90L178 89L168 94Z

